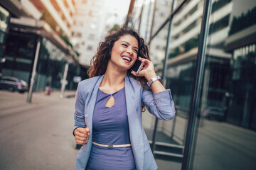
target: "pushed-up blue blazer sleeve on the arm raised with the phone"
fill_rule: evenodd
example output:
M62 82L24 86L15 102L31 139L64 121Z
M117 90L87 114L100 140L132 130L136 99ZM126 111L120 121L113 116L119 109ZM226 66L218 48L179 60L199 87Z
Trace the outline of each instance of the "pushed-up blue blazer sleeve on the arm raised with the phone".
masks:
M162 120L171 120L176 113L174 101L171 97L171 90L161 91L153 94L152 91L143 90L142 101L149 113Z

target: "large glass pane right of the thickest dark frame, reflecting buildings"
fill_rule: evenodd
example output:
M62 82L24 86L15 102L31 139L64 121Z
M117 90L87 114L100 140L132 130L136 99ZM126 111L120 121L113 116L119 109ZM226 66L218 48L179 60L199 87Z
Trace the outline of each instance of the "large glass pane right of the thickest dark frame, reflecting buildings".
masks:
M213 1L190 169L255 169L256 1Z

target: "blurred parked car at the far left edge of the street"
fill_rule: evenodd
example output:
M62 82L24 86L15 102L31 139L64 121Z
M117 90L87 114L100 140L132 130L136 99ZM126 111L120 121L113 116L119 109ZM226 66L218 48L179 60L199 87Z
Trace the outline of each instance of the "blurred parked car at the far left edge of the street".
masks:
M28 84L26 81L17 79L16 77L0 77L0 89L23 93L24 91L28 91Z

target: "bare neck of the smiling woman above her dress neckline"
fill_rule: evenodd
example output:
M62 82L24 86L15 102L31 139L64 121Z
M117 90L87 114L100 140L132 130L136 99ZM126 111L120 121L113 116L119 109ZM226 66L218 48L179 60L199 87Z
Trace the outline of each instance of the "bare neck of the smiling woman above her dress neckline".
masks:
M105 75L102 79L102 83L100 84L100 86L109 86L109 87L115 87L115 86L119 86L124 82L124 78L127 75L127 71L126 72L117 72L114 69L109 69L109 67L107 67L107 70L105 72Z

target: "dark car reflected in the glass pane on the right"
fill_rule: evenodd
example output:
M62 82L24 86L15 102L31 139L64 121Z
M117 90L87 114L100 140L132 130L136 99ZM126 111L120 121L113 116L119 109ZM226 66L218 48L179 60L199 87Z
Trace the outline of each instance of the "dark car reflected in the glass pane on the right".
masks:
M218 108L218 107L208 107L204 110L203 115L208 120L224 120L224 108Z

